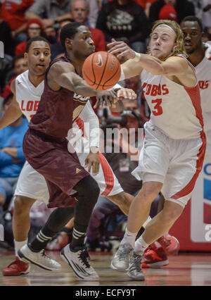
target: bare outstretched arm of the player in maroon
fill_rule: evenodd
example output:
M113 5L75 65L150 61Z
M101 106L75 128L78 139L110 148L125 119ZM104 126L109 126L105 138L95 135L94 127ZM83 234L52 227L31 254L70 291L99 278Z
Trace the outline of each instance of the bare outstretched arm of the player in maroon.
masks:
M48 84L51 89L57 91L60 87L69 89L82 96L96 96L98 104L113 104L116 97L115 91L97 91L87 85L87 82L75 73L75 68L70 63L54 63L48 73Z

